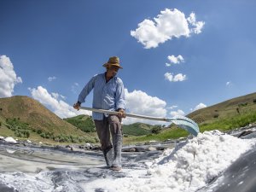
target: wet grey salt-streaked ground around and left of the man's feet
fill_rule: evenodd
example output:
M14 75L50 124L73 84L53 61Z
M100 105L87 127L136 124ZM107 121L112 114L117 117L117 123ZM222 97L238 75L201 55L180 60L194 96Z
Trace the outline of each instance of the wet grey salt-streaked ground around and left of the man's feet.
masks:
M159 154L160 151L123 152L123 171L113 172L105 166L101 151L71 151L61 147L2 142L0 191L84 191L80 186L86 182L97 178L125 177L130 169L143 169L143 160L154 159Z

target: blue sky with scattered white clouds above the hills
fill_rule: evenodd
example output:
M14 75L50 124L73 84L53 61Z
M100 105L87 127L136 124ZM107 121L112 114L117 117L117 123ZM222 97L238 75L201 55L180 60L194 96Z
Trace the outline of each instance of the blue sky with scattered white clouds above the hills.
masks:
M0 7L0 97L31 96L61 118L78 114L79 91L113 55L124 67L130 113L172 117L255 92L253 0L0 0Z

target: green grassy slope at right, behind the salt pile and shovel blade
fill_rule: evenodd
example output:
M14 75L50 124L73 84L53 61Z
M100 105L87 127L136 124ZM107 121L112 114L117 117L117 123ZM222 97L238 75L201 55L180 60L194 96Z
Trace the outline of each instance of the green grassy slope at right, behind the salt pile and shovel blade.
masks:
M202 108L189 113L188 117L198 123L201 132L211 130L229 131L255 123L256 93ZM187 137L188 135L187 131L172 125L170 129L165 129L157 135L125 138L125 143L143 143L152 140L165 141L171 138Z

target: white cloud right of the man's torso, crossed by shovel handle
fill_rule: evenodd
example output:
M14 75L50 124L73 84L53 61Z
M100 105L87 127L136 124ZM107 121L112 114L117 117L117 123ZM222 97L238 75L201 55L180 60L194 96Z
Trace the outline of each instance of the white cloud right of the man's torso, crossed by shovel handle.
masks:
M125 89L126 110L128 113L142 114L154 117L166 117L166 102L156 96L148 96L142 90L133 90L129 92ZM125 118L124 124L131 124L135 122L143 122L148 124L161 124L163 121L152 121L145 119Z

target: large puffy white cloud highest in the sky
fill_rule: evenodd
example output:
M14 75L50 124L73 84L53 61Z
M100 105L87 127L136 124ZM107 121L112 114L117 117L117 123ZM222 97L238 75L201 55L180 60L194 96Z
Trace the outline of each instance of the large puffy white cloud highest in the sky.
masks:
M144 45L144 48L156 48L172 38L181 36L189 37L190 33L200 33L204 22L195 20L195 14L191 13L186 19L183 12L178 9L165 9L154 20L143 20L138 24L131 36ZM195 26L194 28L190 26Z

